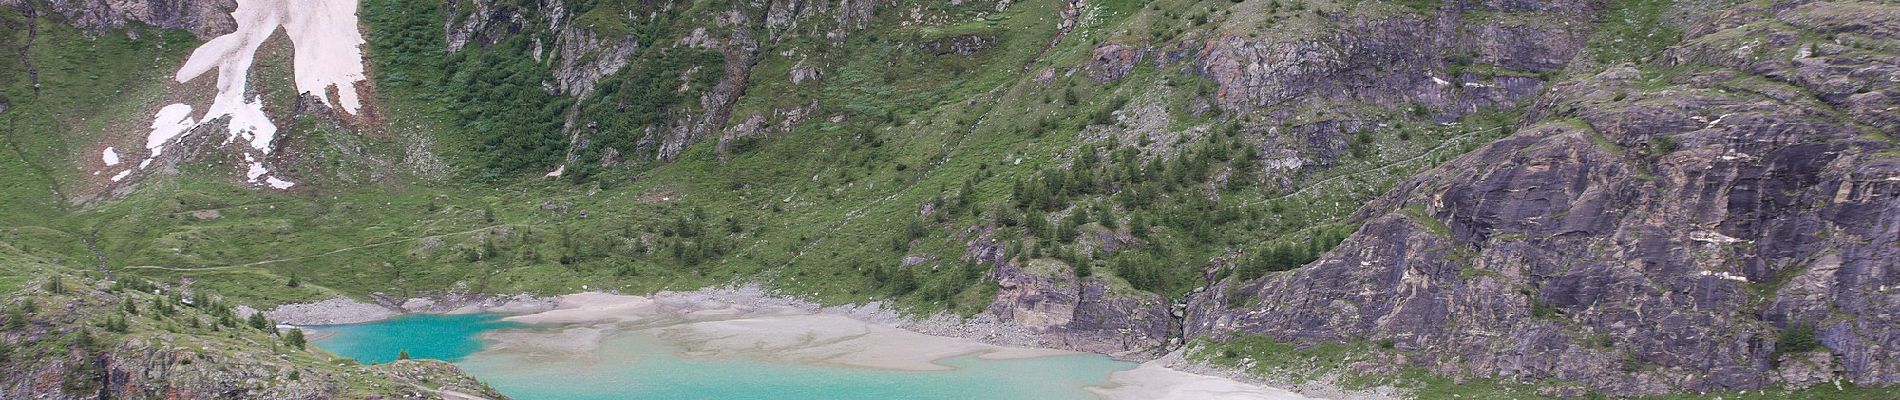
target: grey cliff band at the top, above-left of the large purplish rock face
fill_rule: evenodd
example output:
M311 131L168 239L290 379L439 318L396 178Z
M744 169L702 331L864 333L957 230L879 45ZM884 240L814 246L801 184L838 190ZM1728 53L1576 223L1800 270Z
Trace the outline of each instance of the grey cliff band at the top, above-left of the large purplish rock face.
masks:
M1467 17L1482 13L1524 21ZM1588 13L1590 4L1579 0L1457 2L1429 13L1355 9L1324 21L1282 11L1271 15L1286 19L1284 28L1208 38L1195 63L1220 85L1216 99L1229 110L1416 102L1455 116L1539 93L1539 74L1564 68L1586 44L1588 25L1569 21ZM1307 25L1317 28L1296 28ZM1474 74L1467 64L1514 74Z

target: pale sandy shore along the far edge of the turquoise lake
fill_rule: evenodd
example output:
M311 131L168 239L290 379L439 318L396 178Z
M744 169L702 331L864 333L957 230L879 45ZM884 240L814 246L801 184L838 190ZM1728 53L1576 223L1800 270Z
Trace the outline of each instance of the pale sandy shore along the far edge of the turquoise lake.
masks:
M304 305L283 305L272 318L289 324L353 324L401 313L504 313L504 320L528 328L483 334L484 349L475 356L517 356L591 368L618 360L604 343L614 337L642 336L663 341L690 358L747 356L758 360L876 368L899 372L942 372L946 358L988 360L1081 355L1020 343L996 326L914 320L878 303L819 307L809 301L770 294L756 286L701 288L621 296L602 292L557 298L446 296L386 300L386 305L336 298ZM395 305L399 303L399 305ZM946 328L950 326L950 328ZM965 332L952 328L961 326ZM933 334L920 334L933 332ZM950 337L944 332L960 337ZM967 336L977 334L977 336ZM998 341L1001 337L1001 341ZM625 345L623 341L619 341ZM1087 387L1106 400L1307 400L1307 396L1243 383L1229 377L1184 372L1180 355L1115 372L1100 387ZM1330 394L1328 394L1330 396Z

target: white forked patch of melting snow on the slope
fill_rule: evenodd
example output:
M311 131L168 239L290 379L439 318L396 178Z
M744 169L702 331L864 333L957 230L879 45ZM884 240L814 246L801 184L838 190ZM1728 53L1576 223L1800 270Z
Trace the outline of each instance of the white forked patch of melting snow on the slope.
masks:
M146 155L139 161L144 169L173 146L179 136L205 121L230 118L224 142L243 140L253 152L245 152L245 178L253 184L287 190L294 182L276 176L266 165L272 140L277 138L277 125L264 114L262 97L245 97L251 87L251 64L258 45L277 28L291 36L294 47L293 74L296 91L317 97L323 104L357 114L363 100L355 83L363 82L363 34L357 30L357 0L238 0L232 17L238 30L213 38L192 51L192 57L179 68L179 83L198 80L205 72L217 70L217 97L203 108L203 116L192 118L192 104L169 104L152 118L152 133L146 135ZM116 165L118 155L106 154L106 165ZM129 171L125 171L129 173ZM124 176L125 173L120 173Z

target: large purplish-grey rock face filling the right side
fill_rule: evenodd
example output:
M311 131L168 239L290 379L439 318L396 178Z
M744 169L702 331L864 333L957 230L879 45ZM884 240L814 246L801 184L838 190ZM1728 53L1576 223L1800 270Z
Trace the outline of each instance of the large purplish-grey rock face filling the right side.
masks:
M1438 373L1609 394L1892 385L1900 157L1873 133L1900 85L1856 76L1896 59L1797 34L1883 36L1854 15L1896 11L1742 8L1666 51L1689 72L1560 83L1535 123L1366 205L1319 262L1222 282L1258 307L1195 296L1186 336L1378 339ZM1805 328L1814 343L1782 339Z

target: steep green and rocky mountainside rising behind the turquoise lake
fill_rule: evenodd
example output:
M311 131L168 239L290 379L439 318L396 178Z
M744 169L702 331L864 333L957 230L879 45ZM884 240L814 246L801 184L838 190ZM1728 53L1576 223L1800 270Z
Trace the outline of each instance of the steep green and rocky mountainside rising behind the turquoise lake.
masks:
M1894 383L1883 2L0 4L0 241L253 307L758 282L1421 394Z

